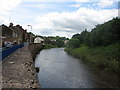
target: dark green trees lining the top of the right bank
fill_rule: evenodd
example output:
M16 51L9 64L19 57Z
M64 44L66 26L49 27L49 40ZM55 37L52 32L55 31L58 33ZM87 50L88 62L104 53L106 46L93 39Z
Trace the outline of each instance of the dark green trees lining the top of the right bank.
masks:
M120 19L118 17L96 25L90 32L85 29L80 34L74 34L67 46L78 48L81 44L85 44L89 47L98 47L114 43L120 43Z

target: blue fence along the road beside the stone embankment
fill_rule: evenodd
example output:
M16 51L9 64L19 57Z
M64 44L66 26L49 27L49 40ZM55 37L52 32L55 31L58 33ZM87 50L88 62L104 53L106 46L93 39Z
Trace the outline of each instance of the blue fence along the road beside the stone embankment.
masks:
M13 53L15 50L17 50L18 48L22 48L24 45L23 44L19 44L19 45L15 45L13 47L10 47L6 50L2 51L2 59L5 59L7 56L9 56L11 53Z

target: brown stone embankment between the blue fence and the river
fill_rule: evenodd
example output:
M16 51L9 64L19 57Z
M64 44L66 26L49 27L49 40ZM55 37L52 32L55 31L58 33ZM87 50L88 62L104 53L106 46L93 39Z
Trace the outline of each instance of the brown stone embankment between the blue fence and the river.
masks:
M34 65L39 44L24 46L2 62L2 88L40 88Z

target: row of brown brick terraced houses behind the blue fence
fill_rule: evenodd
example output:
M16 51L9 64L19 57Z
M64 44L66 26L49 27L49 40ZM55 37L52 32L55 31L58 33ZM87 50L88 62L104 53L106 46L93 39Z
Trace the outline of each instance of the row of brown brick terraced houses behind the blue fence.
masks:
M33 35L28 34L27 30L24 30L20 25L13 26L13 23L10 23L9 27L4 24L0 27L0 32L2 33L0 36L0 44L3 47L10 47L25 42L32 43L34 39Z

